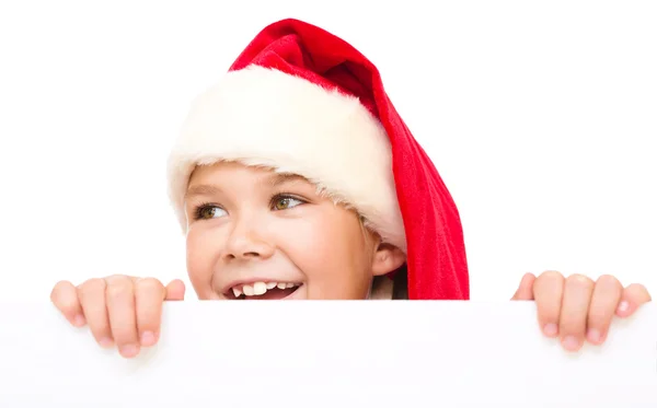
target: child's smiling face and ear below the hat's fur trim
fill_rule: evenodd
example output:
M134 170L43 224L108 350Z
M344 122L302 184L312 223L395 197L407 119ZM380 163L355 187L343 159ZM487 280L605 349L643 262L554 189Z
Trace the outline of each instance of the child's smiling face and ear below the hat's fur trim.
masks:
M366 299L373 276L405 260L301 177L200 166L185 203L187 270L199 299Z

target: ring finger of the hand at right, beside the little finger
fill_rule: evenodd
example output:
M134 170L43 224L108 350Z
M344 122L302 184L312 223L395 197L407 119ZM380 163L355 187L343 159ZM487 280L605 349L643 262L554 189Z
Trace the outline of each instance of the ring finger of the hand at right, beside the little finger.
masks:
M589 342L600 345L604 341L622 294L623 285L616 278L610 275L598 278L588 312L586 338Z

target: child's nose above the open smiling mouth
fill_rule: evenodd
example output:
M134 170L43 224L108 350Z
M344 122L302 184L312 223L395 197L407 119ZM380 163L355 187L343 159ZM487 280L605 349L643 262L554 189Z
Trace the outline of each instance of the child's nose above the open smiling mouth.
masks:
M223 258L227 260L266 259L273 256L274 244L265 238L265 228L266 225L263 222L258 222L255 218L241 218L237 220L226 243Z

